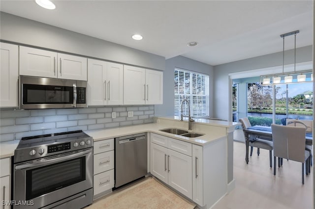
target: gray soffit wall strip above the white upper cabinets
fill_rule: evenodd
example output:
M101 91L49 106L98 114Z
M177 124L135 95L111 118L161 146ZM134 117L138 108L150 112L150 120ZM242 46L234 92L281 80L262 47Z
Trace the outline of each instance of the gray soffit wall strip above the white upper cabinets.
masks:
M164 70L165 57L0 12L0 38L44 49Z

